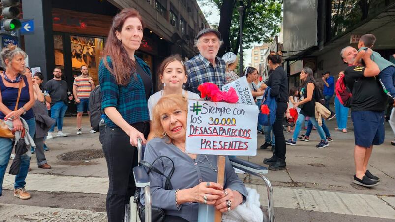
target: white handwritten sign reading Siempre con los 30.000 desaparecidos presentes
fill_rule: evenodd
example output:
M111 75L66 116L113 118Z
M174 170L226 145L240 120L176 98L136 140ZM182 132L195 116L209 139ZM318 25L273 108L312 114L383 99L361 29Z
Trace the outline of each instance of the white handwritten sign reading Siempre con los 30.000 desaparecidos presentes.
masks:
M186 152L211 155L256 155L258 107L189 100Z

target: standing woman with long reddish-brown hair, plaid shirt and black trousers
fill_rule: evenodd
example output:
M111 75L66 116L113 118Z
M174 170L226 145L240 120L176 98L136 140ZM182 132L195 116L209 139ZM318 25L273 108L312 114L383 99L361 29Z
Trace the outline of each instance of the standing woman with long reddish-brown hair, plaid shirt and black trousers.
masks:
M101 109L105 130L103 152L109 188L106 199L109 222L121 222L125 204L134 195L133 167L137 166L137 139L146 143L150 130L147 100L152 95L150 68L135 56L143 38L140 13L125 8L114 16L99 66Z

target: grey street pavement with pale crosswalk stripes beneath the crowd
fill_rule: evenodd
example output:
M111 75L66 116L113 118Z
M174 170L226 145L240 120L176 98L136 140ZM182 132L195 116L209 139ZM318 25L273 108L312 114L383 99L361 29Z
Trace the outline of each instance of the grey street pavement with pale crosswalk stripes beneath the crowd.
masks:
M374 148L369 163L369 170L380 177L381 181L378 186L368 189L352 183L354 175L352 124L349 124L351 129L348 133L342 133L334 131L335 122L335 119L326 122L334 139L329 147L315 148L319 142L319 136L313 130L309 142L298 141L296 146L287 146L286 170L269 171L267 176L274 187L276 218L281 219L278 221L304 221L317 220L318 218L321 218L321 221L326 221L325 217L329 218L329 221L335 218L347 221L394 220L395 147L390 144L394 135L388 123L386 123L385 144ZM95 203L94 208L89 206L64 208L90 209L93 213L102 212L104 206L98 207L96 205L103 205L107 193L108 178L104 158L89 161L61 161L58 159L60 155L70 151L101 149L101 144L98 141L99 134L91 134L89 127L85 127L82 135L76 135L75 117L65 118L64 125L63 132L69 133L68 137L54 137L54 139L47 140L50 151L45 154L48 163L53 168L50 170L37 168L35 155L33 155L32 171L28 174L26 188L40 195L47 195L46 192L52 192L48 195L54 196L66 193L75 198L78 198L79 195L83 198L81 194L85 193L98 195L95 196L95 199L101 199L99 203ZM89 125L88 118L85 116L83 125ZM292 136L286 132L284 134L286 139ZM258 135L257 155L243 158L263 165L263 158L272 156L270 149L259 149L263 142L264 135ZM267 205L266 188L262 185L263 181L246 174L240 175L240 177L246 186L259 191L261 204ZM6 174L4 188L11 190L12 182L13 176ZM6 198L4 196L1 198ZM1 198L0 203L6 204L0 204L0 215L3 215L4 209L12 208L8 204L29 205L30 201L21 203L21 201L10 197L3 202ZM31 201L34 201L34 198ZM37 206L48 207L44 203L39 203ZM37 209L31 208L31 210ZM43 208L43 211L53 213L54 209ZM81 211L80 213L85 214L86 212Z

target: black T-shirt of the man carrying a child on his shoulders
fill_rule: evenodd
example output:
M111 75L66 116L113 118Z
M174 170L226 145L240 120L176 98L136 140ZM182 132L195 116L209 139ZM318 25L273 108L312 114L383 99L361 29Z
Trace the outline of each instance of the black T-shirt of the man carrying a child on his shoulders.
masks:
M386 95L378 78L365 77L365 67L348 66L344 72L345 83L350 89L352 111L384 111Z

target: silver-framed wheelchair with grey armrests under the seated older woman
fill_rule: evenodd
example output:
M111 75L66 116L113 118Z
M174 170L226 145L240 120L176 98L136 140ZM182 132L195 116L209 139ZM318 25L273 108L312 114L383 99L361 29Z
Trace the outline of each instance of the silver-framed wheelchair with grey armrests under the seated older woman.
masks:
M142 160L142 155L143 155L143 143L142 140L139 138L137 139L137 159L138 163ZM229 158L230 162L232 163L232 166L241 169L246 173L249 173L251 175L260 177L263 179L263 181L266 184L266 189L267 189L267 195L268 195L268 207L264 207L263 209L263 218L264 222L274 222L275 217L274 217L274 200L273 200L273 189L272 189L272 184L270 180L265 176L265 174L268 173L268 168L251 163L249 161L245 161L240 158ZM151 222L151 207L152 207L152 201L151 201L151 192L150 192L150 180L147 174L146 169L138 165L133 168L133 177L134 181L136 183L136 187L144 189L144 197L145 197L145 222ZM128 204L126 204L125 207L125 222L141 222L141 219L138 214L137 210L137 203L134 201L134 196L130 197L130 201Z

